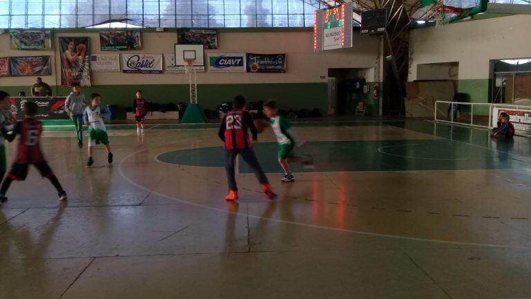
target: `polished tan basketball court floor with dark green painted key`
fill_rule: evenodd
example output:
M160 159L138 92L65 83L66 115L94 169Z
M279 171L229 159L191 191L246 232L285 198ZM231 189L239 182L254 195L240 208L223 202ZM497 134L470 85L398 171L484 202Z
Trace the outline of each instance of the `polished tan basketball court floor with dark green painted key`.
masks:
M315 169L276 200L244 163L226 202L217 125L111 126L115 163L53 127L0 208L0 298L531 298L531 139L428 120L296 123ZM12 147L8 147L12 154ZM8 157L10 160L10 157Z

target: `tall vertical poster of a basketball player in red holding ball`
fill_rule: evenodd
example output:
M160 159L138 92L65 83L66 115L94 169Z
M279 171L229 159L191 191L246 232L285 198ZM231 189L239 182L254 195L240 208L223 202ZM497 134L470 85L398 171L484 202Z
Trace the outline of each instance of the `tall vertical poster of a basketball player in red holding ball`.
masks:
M59 37L59 46L61 84L77 82L81 86L91 86L88 37Z

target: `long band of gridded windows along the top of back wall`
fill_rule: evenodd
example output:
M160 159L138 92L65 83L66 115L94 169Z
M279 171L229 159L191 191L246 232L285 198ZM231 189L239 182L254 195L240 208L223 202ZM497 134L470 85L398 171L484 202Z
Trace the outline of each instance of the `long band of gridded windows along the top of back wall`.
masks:
M0 0L0 29L109 21L165 28L309 27L315 0Z

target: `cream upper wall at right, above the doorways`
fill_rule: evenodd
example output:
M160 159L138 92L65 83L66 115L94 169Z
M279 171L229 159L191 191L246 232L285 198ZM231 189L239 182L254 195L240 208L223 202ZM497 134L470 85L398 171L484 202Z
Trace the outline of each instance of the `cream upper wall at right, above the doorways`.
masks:
M490 60L531 57L531 15L515 15L411 30L409 78L418 64L459 62L459 80L489 78Z

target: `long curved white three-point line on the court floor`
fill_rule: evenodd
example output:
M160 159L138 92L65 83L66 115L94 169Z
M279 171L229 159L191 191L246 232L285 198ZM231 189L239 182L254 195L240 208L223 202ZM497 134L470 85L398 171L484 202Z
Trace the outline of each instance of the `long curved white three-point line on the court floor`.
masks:
M531 249L530 246L513 246L513 245L502 245L502 244L485 244L485 243L473 243L473 242L445 241L445 240L438 240L438 239L424 239L424 238L418 238L418 237L404 237L404 236L386 235L386 234L380 234L380 233L369 233L369 232L364 232L364 231L360 231L360 230L348 230L348 229L345 229L345 228L334 228L334 227L330 227L330 226L319 226L317 224L304 224L304 223L295 222L295 221L287 221L287 220L282 220L282 219L266 218L266 217L261 217L261 216L257 216L257 215L243 214L241 212L230 212L230 211L224 210L222 208L215 208L213 206L206 206L206 205L201 204L201 203L194 203L192 201L185 201L184 199L178 199L176 197L171 197L171 196L169 196L167 194L162 194L160 192L157 192L155 190L151 190L150 188L147 188L147 187L145 187L143 185L140 185L140 184L136 183L135 181L129 179L129 177L127 177L124 174L124 172L122 170L124 161L126 161L129 158L131 158L131 156L139 154L140 152L144 152L144 151L146 151L148 149L153 149L153 148L161 147L161 146L167 146L167 145L170 145L170 144L172 144L172 143L167 143L165 145L156 145L154 147L148 147L147 149L140 149L140 150L138 150L136 152L132 152L131 154L128 154L127 156L124 156L122 158L122 160L120 161L120 164L118 164L118 173L120 174L120 176L122 176L122 179L124 179L125 181L127 181L131 185L134 185L134 186L136 186L136 188L139 188L141 190L145 190L146 192L151 192L151 194L157 194L160 197L163 197L163 198L166 198L166 199L170 199L170 200L173 200L173 201L177 201L179 203L184 203L184 204L187 204L189 206L195 206L197 208L205 208L207 210L212 210L212 211L216 211L216 212L222 212L223 214L232 214L232 215L237 215L237 216L242 216L242 217L250 217L252 219L261 219L261 220L265 220L265 221L274 221L274 222L281 223L281 224L292 224L292 225L304 226L304 227L308 227L308 228L320 228L320 229L324 229L324 230L334 230L334 231L339 231L339 232L344 232L344 233L355 233L355 234L359 234L359 235L370 235L370 236L374 236L374 237L388 237L388 238L391 238L391 239L405 239L405 240L409 240L409 241L431 242L431 243L439 243L439 244L456 244L456 245L465 245L465 246L482 246L482 247L491 247L491 248Z

